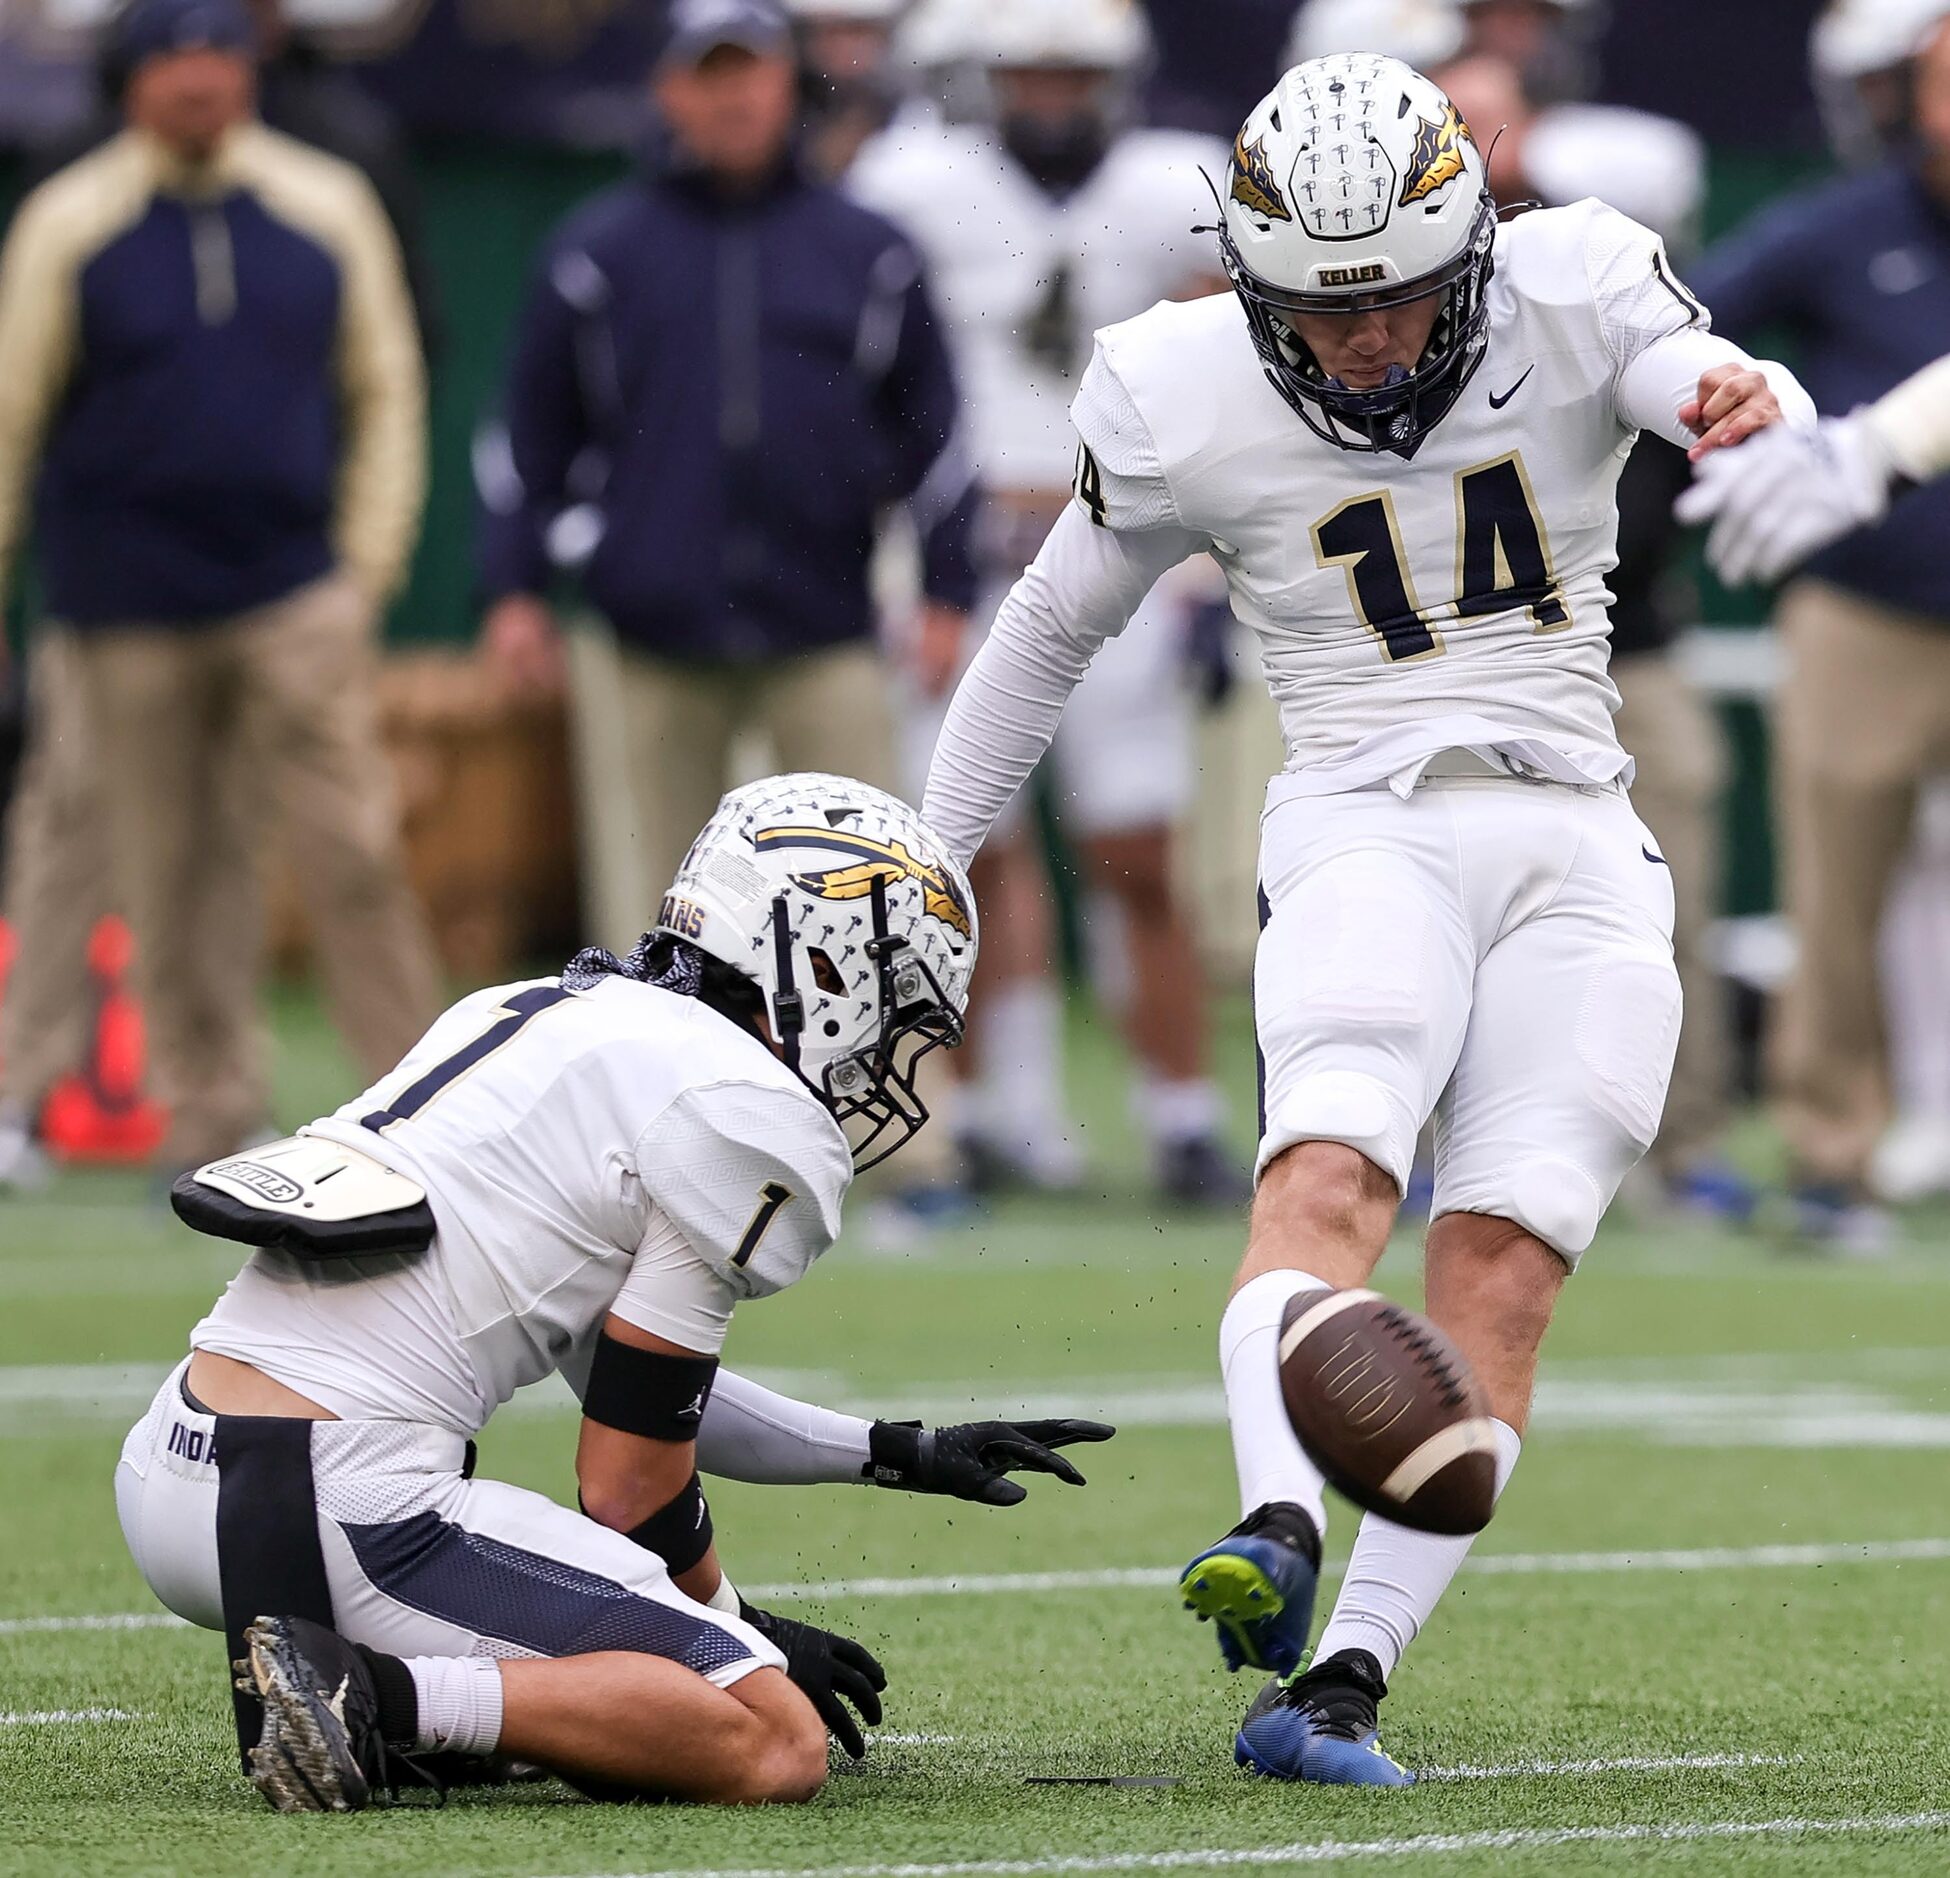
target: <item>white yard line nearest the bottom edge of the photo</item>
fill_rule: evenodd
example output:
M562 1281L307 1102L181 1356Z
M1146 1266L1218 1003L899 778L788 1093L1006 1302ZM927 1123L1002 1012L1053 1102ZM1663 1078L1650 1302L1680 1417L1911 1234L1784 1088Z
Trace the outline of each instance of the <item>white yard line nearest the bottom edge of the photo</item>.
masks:
M1293 1845L1203 1847L1176 1853L1104 1853L1063 1858L967 1858L944 1864L813 1864L653 1870L628 1878L1067 1878L1072 1872L1174 1872L1258 1864L1338 1864L1344 1858L1441 1858L1455 1853L1527 1853L1564 1845L1689 1845L1700 1839L1812 1839L1868 1833L1940 1833L1950 1812L1854 1814L1845 1819L1702 1819L1675 1825L1558 1825L1406 1839L1301 1839Z

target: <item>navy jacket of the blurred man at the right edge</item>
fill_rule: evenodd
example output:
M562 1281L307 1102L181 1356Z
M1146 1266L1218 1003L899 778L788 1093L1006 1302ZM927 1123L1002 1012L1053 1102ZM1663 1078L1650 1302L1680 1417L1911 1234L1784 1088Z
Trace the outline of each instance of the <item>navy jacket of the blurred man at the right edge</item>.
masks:
M1815 406L1843 415L1950 347L1950 213L1907 162L1792 195L1687 271L1714 332L1778 328ZM1901 497L1808 571L1950 624L1950 480Z

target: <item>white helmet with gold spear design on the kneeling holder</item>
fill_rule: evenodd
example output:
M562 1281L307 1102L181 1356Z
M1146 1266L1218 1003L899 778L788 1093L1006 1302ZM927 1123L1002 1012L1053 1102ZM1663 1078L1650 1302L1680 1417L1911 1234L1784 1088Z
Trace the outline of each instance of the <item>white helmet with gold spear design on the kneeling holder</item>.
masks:
M915 1065L961 1041L979 928L967 874L905 802L819 774L733 790L657 930L759 985L780 1053L846 1129L856 1168L928 1119Z

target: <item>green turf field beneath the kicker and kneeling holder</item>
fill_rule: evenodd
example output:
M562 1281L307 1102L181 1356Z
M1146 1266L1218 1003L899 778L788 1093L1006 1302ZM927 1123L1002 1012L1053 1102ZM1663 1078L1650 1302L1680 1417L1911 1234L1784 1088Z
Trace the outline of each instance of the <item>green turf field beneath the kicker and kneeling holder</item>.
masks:
M296 1121L349 1082L308 1006L279 1034ZM1147 1207L1110 1055L1082 1045L1102 1193L998 1207L924 1258L842 1246L733 1330L733 1363L838 1406L1123 1424L1088 1492L1037 1484L1014 1511L714 1492L733 1576L891 1675L885 1738L803 1810L538 1786L271 1816L226 1745L220 1646L160 1623L109 1494L230 1260L129 1180L0 1201L0 1872L1950 1870L1942 1213L1876 1266L1611 1229L1566 1295L1511 1496L1384 1710L1429 1777L1283 1788L1234 1771L1252 1687L1170 1595L1236 1517L1213 1334L1238 1229ZM1414 1293L1406 1238L1383 1283ZM571 1449L571 1414L517 1406L484 1467L569 1498ZM1330 1556L1351 1531L1336 1507ZM1047 1773L1178 1784L1026 1784Z

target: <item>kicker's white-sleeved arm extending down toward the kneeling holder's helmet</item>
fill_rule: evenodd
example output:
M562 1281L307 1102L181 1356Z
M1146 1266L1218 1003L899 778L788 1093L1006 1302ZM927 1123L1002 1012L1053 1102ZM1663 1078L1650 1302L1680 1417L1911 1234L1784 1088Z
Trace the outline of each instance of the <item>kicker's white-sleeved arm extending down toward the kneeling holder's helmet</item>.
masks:
M1098 647L1162 573L1211 546L1178 519L1150 433L1102 347L1072 417L1076 499L1002 601L928 766L922 819L963 866L1041 763Z

